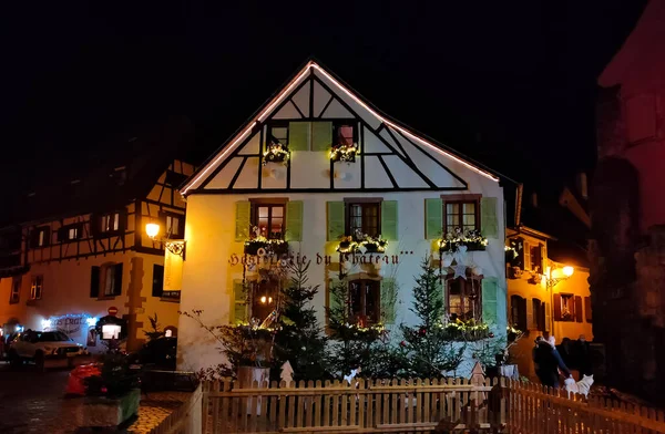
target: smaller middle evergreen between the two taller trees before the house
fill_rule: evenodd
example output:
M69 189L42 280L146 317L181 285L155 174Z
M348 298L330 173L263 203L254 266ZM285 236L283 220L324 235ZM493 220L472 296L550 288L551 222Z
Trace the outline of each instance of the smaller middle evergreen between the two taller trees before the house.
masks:
M351 291L347 275L339 272L339 278L330 285L330 306L327 308L328 328L330 330L329 359L332 372L337 376L348 375L351 370L367 368L372 344L382 333L380 326L361 326L355 323L350 312Z

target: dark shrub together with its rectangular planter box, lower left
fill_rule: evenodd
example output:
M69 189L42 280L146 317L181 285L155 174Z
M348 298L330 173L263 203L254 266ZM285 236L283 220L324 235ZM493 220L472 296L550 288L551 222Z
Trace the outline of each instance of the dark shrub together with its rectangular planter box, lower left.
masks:
M99 374L83 379L85 396L78 407L80 426L116 427L139 413L139 375L120 352L105 354Z

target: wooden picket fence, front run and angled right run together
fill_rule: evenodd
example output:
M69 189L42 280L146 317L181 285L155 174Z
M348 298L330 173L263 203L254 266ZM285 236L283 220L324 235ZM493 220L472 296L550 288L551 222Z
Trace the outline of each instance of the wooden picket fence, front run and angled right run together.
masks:
M508 380L205 382L203 432L665 433L662 411Z

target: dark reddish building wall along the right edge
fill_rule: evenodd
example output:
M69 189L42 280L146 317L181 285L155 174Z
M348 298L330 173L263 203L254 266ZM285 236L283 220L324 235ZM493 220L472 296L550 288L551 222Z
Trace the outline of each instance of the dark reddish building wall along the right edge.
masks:
M649 1L598 78L590 193L594 334L612 380L665 396L665 2Z

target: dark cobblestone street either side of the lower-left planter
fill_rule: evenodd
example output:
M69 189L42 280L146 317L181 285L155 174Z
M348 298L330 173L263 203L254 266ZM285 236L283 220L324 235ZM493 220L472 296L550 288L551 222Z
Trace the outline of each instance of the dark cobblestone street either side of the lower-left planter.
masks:
M0 362L0 433L83 434L74 409L79 399L65 399L69 370L35 372L27 365L10 370ZM126 433L145 433L163 421L186 399L187 393L164 392L142 395L139 417Z

